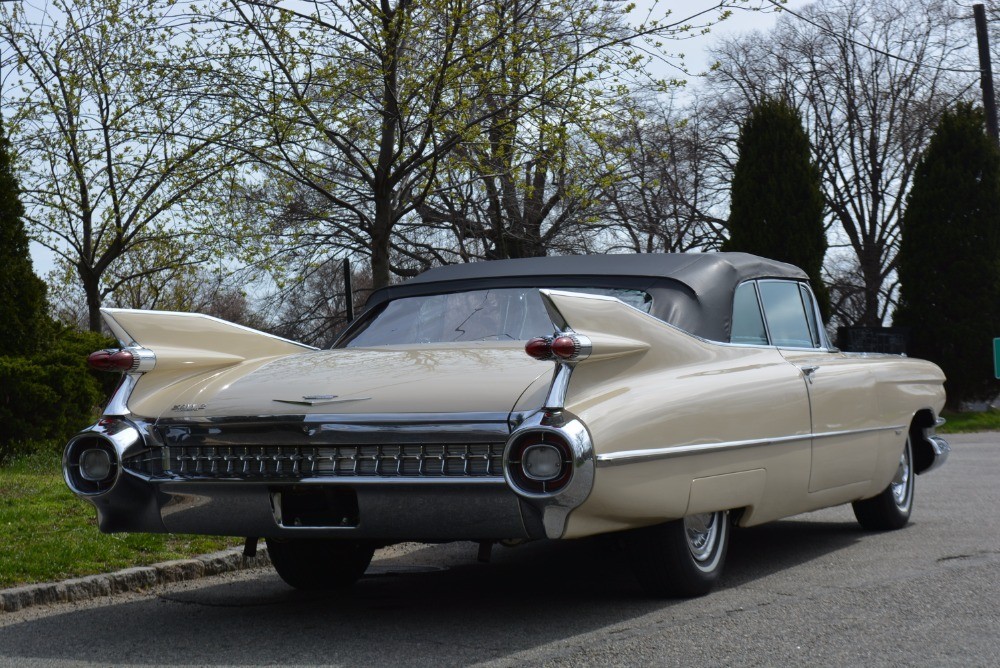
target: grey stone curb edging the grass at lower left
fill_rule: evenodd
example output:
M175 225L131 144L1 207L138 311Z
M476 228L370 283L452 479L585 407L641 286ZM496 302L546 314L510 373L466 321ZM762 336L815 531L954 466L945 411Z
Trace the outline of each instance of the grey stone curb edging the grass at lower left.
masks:
M267 548L264 546L257 548L257 556L251 558L244 557L242 548L238 548L193 559L126 568L115 573L0 589L0 613L23 610L35 605L72 603L98 596L140 591L170 582L195 580L249 568L262 568L270 563Z

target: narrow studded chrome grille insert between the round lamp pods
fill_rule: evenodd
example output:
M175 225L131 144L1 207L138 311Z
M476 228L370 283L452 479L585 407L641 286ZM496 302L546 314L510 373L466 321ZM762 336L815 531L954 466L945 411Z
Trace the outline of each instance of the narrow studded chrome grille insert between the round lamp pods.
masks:
M125 459L151 478L298 480L305 478L503 479L503 443L336 446L153 447Z

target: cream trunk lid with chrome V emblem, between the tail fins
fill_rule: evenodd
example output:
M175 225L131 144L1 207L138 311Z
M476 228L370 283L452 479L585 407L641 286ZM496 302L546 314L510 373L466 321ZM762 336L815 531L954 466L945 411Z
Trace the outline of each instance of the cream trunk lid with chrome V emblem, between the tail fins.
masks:
M529 358L522 344L322 350L182 383L160 416L510 412L532 383L551 373L551 365Z

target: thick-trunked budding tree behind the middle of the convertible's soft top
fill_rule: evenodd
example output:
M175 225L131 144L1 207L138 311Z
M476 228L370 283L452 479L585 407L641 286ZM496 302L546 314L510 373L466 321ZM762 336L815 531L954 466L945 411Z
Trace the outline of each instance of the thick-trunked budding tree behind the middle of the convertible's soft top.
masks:
M601 9L602 20L619 20ZM479 96L489 114L442 162L440 185L420 208L427 224L449 225L461 248L472 244L489 259L569 250L594 216L603 168L594 149L610 97L576 56L583 35L554 38L545 58L522 56L518 34L551 21L544 12L525 15L486 54L491 76Z

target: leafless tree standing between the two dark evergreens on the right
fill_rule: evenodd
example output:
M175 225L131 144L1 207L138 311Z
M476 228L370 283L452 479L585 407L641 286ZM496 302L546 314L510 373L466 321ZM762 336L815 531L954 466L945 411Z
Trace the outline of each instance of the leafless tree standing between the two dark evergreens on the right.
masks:
M772 95L802 113L831 248L857 258L857 324L879 325L892 309L899 221L917 158L941 111L971 85L968 31L956 29L958 18L941 0L833 0L715 54L713 88L736 109Z

